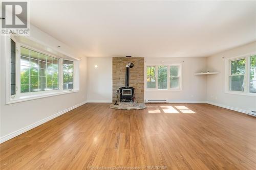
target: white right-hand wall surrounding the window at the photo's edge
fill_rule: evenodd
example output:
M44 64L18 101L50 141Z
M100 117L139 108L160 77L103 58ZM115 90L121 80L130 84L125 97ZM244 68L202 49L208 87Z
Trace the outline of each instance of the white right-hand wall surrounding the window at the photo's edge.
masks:
M207 78L207 100L220 106L228 106L246 112L256 109L256 96L225 93L225 58L236 57L256 52L256 42L249 43L207 58L209 70L220 71L221 74L209 75ZM222 58L225 57L225 58Z

